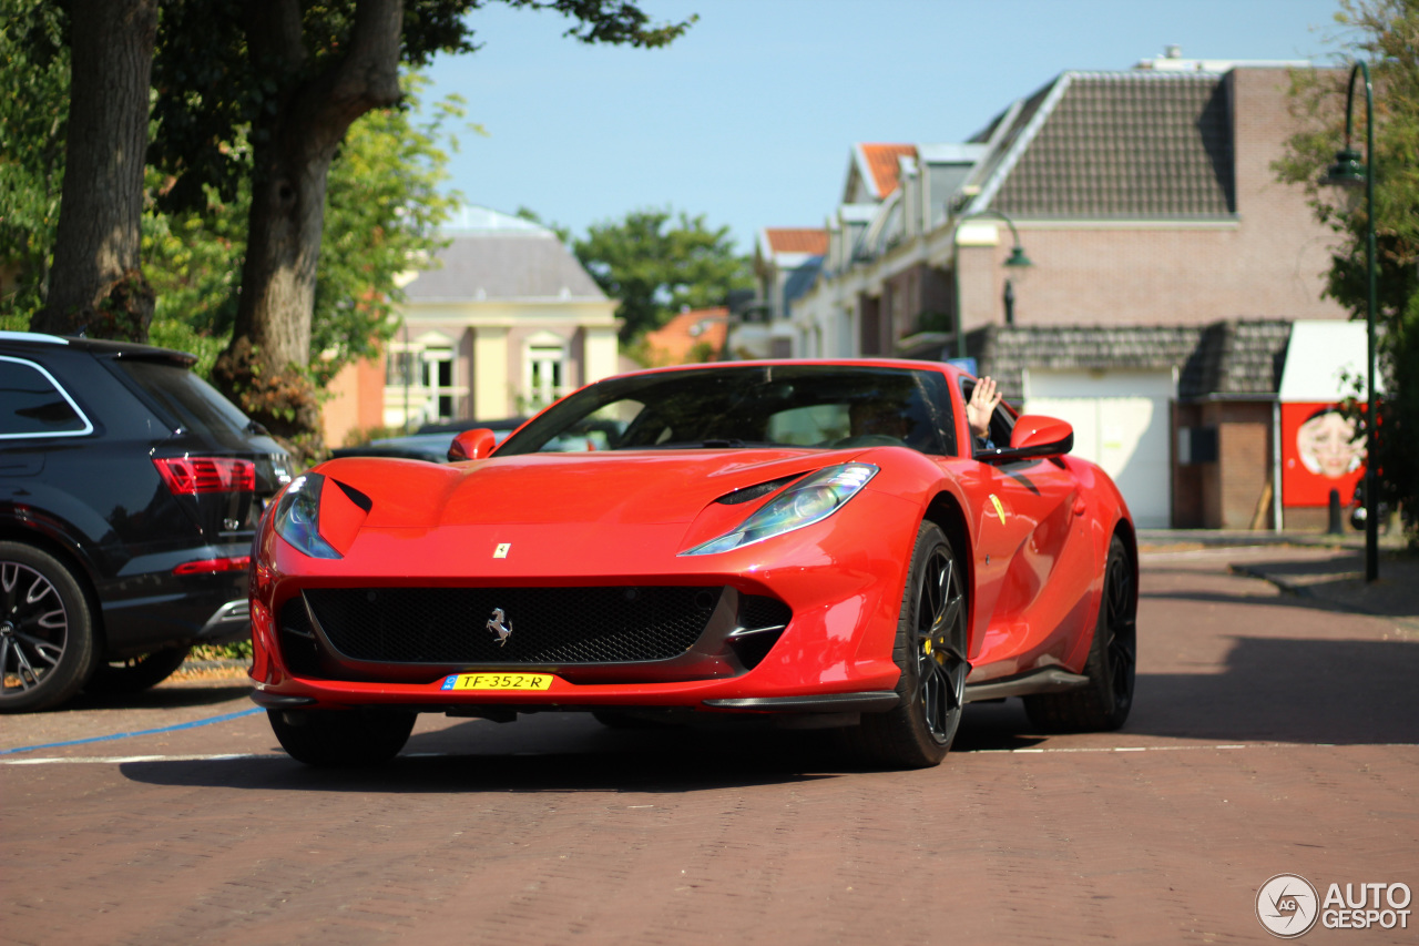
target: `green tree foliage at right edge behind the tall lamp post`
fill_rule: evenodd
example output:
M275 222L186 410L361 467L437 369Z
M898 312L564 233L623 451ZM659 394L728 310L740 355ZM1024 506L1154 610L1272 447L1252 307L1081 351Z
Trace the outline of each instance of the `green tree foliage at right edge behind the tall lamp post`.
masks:
M1381 491L1399 500L1419 537L1419 0L1341 0L1347 57L1371 70L1375 105L1375 239L1379 369L1384 396L1371 459ZM1320 179L1345 138L1349 60L1334 71L1298 71L1293 111L1305 128L1276 163L1281 180L1303 183L1317 219L1340 237L1325 293L1365 318L1365 206L1348 206ZM1352 146L1364 152L1365 97L1357 82Z

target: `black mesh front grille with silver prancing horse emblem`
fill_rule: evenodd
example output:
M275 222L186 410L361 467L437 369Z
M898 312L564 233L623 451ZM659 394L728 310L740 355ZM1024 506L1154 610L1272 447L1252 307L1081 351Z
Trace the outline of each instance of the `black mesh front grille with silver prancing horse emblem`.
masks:
M668 660L690 649L722 588L312 588L316 624L349 659L575 665ZM299 601L291 602L299 607ZM499 645L495 624L511 628ZM284 616L284 615L282 615Z

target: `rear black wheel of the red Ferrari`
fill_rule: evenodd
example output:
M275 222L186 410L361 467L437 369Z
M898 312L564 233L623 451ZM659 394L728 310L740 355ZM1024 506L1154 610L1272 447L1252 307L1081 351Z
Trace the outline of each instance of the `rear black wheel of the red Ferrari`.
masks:
M1138 587L1124 540L1114 535L1104 565L1098 624L1088 646L1088 685L1064 693L1025 697L1030 722L1046 733L1090 733L1118 729L1134 706L1138 662Z

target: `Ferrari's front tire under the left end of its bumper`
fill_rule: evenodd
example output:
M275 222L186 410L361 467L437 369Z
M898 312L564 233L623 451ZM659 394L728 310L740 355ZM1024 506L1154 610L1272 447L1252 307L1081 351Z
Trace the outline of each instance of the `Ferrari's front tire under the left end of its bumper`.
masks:
M267 710L271 730L291 759L307 766L377 766L399 754L416 713L360 710Z

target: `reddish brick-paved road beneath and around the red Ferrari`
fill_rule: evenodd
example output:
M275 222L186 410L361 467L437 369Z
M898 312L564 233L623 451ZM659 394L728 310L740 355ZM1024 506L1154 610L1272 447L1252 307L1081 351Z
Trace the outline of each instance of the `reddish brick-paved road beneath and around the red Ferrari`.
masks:
M261 714L166 729L245 713L231 680L0 719L0 750L165 729L0 756L0 940L1273 942L1274 874L1419 889L1419 635L1226 568L1277 554L1148 558L1124 732L972 706L929 771L582 716L421 717L363 774Z

